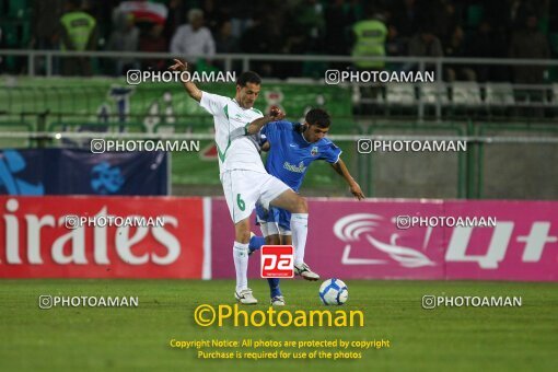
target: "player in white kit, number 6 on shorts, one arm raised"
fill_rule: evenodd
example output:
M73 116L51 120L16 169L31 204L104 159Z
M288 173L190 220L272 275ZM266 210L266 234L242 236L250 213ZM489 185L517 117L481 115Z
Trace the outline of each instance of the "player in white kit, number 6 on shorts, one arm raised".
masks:
M170 67L173 71L186 71L187 63L175 59ZM280 111L275 116L263 115L254 108L261 79L255 72L243 72L236 81L234 98L200 91L190 81L183 81L188 95L199 102L213 115L216 143L219 154L220 179L223 185L226 206L234 223L233 244L236 290L234 297L243 304L256 304L257 300L248 288L248 242L251 237L249 216L259 202L292 213L291 231L294 246L294 269L303 278L318 277L304 264L304 248L307 235L306 200L278 178L269 175L259 158L259 143L253 135L270 121L281 120Z

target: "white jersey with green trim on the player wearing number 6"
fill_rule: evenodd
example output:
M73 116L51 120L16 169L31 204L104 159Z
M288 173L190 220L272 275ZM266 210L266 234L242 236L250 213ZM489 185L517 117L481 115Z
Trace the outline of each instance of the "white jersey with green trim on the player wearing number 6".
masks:
M233 100L201 92L199 105L213 115L220 174L232 170L267 173L246 126L263 117L256 108L243 108Z

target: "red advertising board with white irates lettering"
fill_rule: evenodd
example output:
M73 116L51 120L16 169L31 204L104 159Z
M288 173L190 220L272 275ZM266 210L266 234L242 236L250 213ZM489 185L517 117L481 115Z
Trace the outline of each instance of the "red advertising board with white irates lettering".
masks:
M209 259L201 198L0 197L0 278L199 279ZM67 216L89 222L67 226Z

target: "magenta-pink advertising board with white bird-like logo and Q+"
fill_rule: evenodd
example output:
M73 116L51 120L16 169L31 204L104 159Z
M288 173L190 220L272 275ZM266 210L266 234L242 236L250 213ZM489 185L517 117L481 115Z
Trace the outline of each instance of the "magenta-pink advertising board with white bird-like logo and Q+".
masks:
M324 279L558 280L556 201L310 199L309 207L305 261ZM213 221L223 221L212 231L214 278L234 278L228 213L224 200L213 201ZM259 267L252 255L252 278Z

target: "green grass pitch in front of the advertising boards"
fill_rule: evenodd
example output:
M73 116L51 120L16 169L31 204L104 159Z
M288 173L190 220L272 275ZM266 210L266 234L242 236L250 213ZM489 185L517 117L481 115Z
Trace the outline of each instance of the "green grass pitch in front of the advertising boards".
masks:
M232 281L2 280L0 370L550 371L558 365L556 283L347 283L349 302L342 309L362 310L365 314L362 328L234 328L230 325L204 328L195 325L193 313L198 304L233 304ZM267 311L267 283L252 280L251 287L260 304L243 309ZM317 288L317 283L302 280L284 281L286 310L325 309L318 303ZM137 309L39 310L40 294L137 295L140 304ZM425 294L521 295L523 306L428 311L420 304ZM391 348L362 351L360 360L231 362L197 359L195 350L171 348L172 338L281 341L383 338L391 340Z

